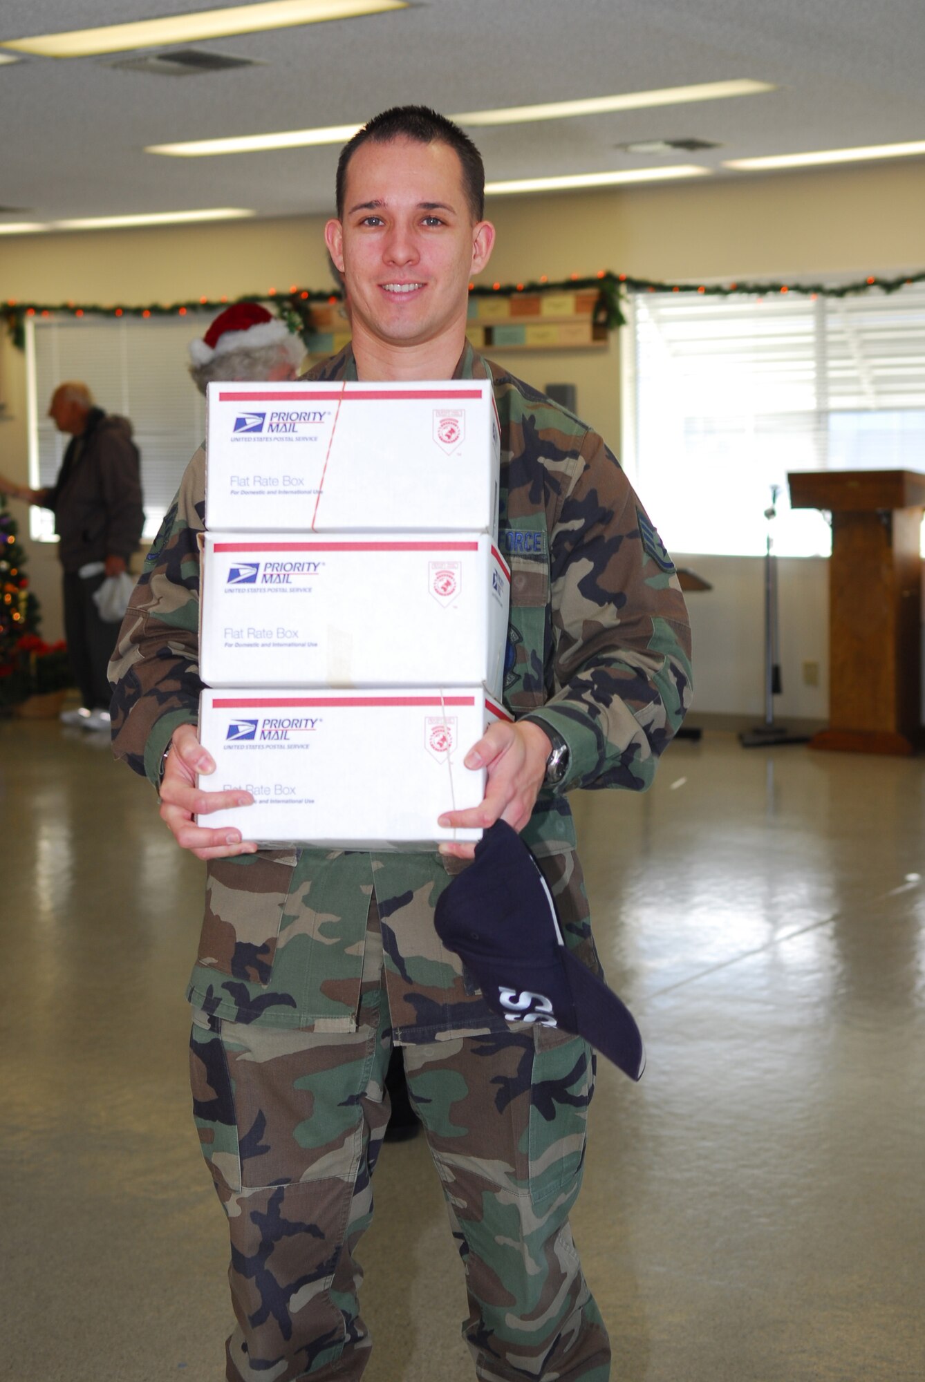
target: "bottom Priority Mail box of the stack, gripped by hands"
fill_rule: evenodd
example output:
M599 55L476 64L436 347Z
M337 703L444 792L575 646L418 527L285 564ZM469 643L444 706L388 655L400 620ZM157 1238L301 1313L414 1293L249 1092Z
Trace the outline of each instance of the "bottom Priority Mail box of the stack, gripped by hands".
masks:
M199 737L216 771L207 792L245 789L253 806L198 817L261 844L433 850L478 840L441 829L444 811L478 806L484 770L463 759L488 724L509 720L484 690L203 691Z

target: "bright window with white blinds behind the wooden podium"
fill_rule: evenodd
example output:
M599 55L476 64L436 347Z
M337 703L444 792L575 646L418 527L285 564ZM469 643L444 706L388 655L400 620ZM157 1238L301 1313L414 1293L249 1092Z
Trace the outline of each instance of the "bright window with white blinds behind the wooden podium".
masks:
M925 285L856 297L639 293L624 455L669 551L828 556L791 470L925 470Z

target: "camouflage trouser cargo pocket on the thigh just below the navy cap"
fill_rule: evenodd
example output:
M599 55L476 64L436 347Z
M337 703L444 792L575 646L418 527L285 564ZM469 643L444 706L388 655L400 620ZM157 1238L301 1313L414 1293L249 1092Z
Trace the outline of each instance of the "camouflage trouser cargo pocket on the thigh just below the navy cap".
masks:
M530 1195L541 1204L561 1190L578 1193L595 1082L592 1050L581 1036L536 1027L534 1043Z

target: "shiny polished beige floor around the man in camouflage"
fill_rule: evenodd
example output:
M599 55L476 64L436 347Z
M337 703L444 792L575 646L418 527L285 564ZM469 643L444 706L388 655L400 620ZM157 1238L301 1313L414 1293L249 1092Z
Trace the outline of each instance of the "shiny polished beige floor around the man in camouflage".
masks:
M614 1382L925 1376L925 760L680 742L574 799L644 1030L600 1071L575 1237ZM188 1117L202 865L108 746L0 721L0 1376L221 1382L224 1219ZM420 1140L384 1148L368 1382L469 1382Z

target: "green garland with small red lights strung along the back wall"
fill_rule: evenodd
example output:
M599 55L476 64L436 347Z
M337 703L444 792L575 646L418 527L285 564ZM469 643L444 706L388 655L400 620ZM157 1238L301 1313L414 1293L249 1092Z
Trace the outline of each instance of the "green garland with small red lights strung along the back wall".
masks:
M903 274L899 278L879 278L875 274L852 283L665 283L651 278L635 278L632 274L614 274L601 269L588 278L572 274L570 278L550 281L545 275L530 283L478 283L470 286L473 297L516 297L521 293L597 293L595 322L613 330L625 325L622 299L626 293L701 293L707 297L733 297L748 294L772 297L784 293L798 293L803 297L853 297L878 289L882 293L896 293L908 283L925 282L925 269L917 274ZM315 289L292 289L288 293L250 293L228 299L189 299L185 303L148 303L147 305L101 305L98 303L18 303L10 300L0 305L6 318L7 334L19 350L25 346L25 322L29 316L185 316L188 312L217 312L230 303L274 303L289 329L303 340L312 334L312 303L336 303L340 293Z

